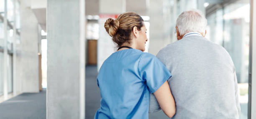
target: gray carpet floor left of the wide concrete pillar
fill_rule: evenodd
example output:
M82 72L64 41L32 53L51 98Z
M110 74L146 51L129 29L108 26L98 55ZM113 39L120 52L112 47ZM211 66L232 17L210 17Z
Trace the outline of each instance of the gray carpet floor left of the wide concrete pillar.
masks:
M0 103L0 119L46 119L46 89Z

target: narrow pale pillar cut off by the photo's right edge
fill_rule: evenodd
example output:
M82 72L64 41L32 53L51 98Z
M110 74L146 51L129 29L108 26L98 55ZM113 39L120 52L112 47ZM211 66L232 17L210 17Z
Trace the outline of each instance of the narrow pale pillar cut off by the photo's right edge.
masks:
M250 0L250 5L248 119L256 119L256 1Z

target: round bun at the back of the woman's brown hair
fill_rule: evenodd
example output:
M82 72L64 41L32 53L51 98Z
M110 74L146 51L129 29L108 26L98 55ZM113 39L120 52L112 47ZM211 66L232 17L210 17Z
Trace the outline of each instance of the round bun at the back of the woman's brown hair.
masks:
M106 31L108 32L108 34L113 37L119 27L119 21L118 20L113 20L111 18L108 18L108 20L106 20L105 25L104 25Z

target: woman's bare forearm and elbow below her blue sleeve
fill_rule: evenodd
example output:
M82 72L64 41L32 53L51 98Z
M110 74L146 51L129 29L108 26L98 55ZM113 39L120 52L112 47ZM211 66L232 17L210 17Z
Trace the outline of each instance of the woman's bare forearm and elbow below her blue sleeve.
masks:
M176 107L168 82L164 82L164 84L154 92L154 95L164 113L169 118L173 117L176 112Z

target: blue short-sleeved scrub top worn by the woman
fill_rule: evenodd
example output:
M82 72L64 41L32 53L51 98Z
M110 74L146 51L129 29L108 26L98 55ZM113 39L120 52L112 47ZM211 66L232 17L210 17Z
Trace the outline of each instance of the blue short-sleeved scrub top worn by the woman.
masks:
M154 55L136 49L114 52L97 76L101 100L94 119L148 119L149 94L171 76Z

